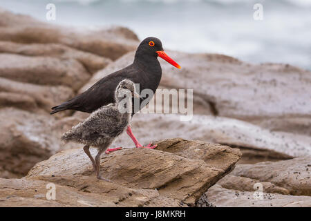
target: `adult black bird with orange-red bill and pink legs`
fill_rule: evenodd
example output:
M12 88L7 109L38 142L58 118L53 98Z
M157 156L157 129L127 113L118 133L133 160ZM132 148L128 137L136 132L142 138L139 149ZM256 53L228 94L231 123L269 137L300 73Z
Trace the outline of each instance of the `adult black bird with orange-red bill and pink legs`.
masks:
M156 89L162 77L162 69L157 59L158 57L161 57L176 68L180 68L180 66L164 52L160 39L156 37L147 37L138 46L133 64L103 77L84 93L73 97L73 99L59 106L53 107L53 111L50 114L65 110L92 113L102 106L113 103L115 102L115 88L123 79L129 79L135 84L139 84L140 91L149 88L153 90L153 93L156 93ZM151 97L147 97L146 99L150 100ZM143 100L142 98L140 99L140 104ZM144 106L140 106L139 110L143 107ZM151 146L151 144L142 146L133 135L130 126L127 127L126 133L131 137L137 148L156 148L156 146ZM111 149L111 151L113 150L114 149Z

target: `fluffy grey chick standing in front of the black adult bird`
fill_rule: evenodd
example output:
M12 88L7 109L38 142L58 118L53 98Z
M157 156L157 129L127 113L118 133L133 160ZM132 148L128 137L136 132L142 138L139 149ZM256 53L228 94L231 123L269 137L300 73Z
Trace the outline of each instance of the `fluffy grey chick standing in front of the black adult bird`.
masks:
M110 181L100 175L100 155L106 151L115 137L129 126L132 113L131 97L140 97L140 95L136 93L133 81L124 79L115 90L115 104L98 108L84 122L73 126L70 131L62 136L62 140L66 142L73 141L86 144L83 148L84 152L90 157L93 169L100 180ZM123 106L124 110L120 110L119 104L124 99L126 101L125 107ZM90 153L90 146L98 148L95 160Z

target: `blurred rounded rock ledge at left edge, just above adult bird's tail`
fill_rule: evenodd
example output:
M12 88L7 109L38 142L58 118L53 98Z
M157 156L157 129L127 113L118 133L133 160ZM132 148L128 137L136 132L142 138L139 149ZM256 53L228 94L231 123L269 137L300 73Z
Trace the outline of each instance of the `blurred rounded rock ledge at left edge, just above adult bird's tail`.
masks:
M75 59L0 55L0 77L25 83L68 86L77 90L91 75Z

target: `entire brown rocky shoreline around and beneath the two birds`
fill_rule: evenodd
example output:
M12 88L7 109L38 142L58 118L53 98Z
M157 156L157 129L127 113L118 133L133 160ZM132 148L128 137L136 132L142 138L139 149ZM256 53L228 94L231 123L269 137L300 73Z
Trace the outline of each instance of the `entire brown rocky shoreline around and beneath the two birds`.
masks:
M160 61L160 88L194 88L194 116L135 115L133 133L158 148L103 155L113 184L99 182L82 148L59 139L87 115L50 107L130 64L138 37L0 16L0 206L311 206L310 71L169 51L182 69Z

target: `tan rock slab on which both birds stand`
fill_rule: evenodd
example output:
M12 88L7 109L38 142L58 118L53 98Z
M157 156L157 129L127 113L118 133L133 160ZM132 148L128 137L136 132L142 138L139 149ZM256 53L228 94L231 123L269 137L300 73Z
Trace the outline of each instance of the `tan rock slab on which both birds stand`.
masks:
M75 200L73 197L66 199L59 194L60 198L67 200L66 203L64 200L55 201L62 206L77 205L77 198L89 204L84 206L194 206L210 186L234 169L234 164L241 157L237 149L199 141L178 138L158 143L163 151L124 148L109 155L103 154L102 175L112 182L97 180L91 161L82 148L75 148L59 152L50 159L39 162L23 179L10 180L15 184L9 185L9 182L6 182L5 184L9 185L6 188L1 187L4 184L3 180L0 180L0 189L10 189L11 192L15 189L15 197L25 197L23 190L29 191L30 187L23 186L20 191L16 191L14 186L19 185L21 180L28 186L32 186L28 182L42 182L39 184L44 185L41 186L42 191L46 191L46 183L53 182L59 189L70 187L70 191L75 192ZM172 143L178 144L173 147L176 154L165 151ZM189 150L196 151L201 157L187 157ZM95 148L91 148L93 155L96 152ZM216 156L216 153L220 152L224 154ZM227 164L223 165L220 162ZM12 204L18 201L8 198L8 193L10 191L0 191L0 198L10 200ZM86 199L84 195L88 195L89 198ZM96 196L95 200L91 200L92 195ZM31 198L28 202L33 201L31 195L26 198Z

